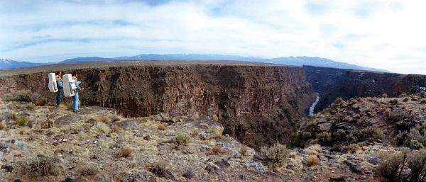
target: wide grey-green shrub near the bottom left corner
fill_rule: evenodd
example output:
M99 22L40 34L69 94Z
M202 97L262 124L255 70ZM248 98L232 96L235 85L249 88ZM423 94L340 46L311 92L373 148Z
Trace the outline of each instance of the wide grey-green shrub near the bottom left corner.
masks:
M38 156L24 161L23 173L28 176L58 176L62 173L60 160L53 157Z

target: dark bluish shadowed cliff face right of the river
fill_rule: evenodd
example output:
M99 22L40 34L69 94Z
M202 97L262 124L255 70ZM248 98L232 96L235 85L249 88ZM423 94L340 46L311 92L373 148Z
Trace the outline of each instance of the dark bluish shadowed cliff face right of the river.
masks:
M303 67L307 81L320 93L315 111L327 108L336 98L399 96L401 93L417 93L426 90L426 76L367 72L325 67Z

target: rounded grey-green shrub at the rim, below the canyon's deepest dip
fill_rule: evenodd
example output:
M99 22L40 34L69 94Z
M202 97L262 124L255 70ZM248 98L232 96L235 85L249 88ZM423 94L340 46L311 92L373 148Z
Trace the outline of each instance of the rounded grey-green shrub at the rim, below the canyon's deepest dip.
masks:
M283 166L285 159L289 155L289 151L284 144L274 144L272 147L261 147L261 157L273 167Z

